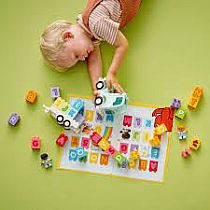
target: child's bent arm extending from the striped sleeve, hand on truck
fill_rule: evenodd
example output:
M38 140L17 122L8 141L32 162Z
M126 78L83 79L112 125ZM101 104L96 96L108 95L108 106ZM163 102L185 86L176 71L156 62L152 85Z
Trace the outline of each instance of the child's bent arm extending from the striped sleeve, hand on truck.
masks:
M122 93L124 90L118 83L116 74L128 51L128 41L121 31L118 31L114 46L116 47L115 54L107 73L106 82L109 89L111 86L113 86L117 92Z

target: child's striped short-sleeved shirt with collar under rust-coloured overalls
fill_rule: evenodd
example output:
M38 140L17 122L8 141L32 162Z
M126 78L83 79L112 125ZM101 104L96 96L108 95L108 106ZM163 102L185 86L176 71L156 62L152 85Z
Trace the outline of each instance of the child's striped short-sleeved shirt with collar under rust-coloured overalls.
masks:
M93 37L93 43L107 41L115 43L120 26L122 10L118 0L103 0L90 14L89 28L85 27L82 15L77 17L77 23Z

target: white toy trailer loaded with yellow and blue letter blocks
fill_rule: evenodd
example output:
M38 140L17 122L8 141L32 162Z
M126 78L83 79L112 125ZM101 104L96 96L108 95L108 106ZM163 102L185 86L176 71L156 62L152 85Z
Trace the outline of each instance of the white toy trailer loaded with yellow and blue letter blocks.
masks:
M45 112L50 112L57 120L59 125L64 126L66 130L72 130L78 133L84 123L85 117L80 113L84 108L84 101L77 99L72 106L58 97L51 107L43 105Z

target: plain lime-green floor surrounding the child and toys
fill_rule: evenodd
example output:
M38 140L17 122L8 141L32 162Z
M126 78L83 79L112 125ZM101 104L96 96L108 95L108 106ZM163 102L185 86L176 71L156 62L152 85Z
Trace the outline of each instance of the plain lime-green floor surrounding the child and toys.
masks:
M30 149L32 136L42 138L42 150L58 161L55 138L61 128L45 116L49 88L91 95L86 64L58 73L44 64L39 52L42 30L56 19L75 22L85 0L1 0L0 3L0 210L59 209L210 209L209 76L210 1L144 0L141 12L123 30L130 48L118 79L130 100L165 106L173 97L186 105L194 85L204 87L195 112L184 120L189 139L199 136L202 146L189 160L180 157L187 143L173 133L164 184L110 178L78 172L44 170L39 153ZM104 72L113 48L102 44ZM24 101L28 89L38 101ZM11 112L21 115L10 127ZM175 124L178 124L176 120ZM175 130L175 129L174 129ZM189 142L188 139L188 142Z

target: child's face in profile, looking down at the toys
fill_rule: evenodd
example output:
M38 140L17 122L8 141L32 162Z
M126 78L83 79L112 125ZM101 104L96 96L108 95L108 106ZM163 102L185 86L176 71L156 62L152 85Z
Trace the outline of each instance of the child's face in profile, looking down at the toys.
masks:
M66 42L64 50L60 53L59 66L70 68L78 61L84 61L93 49L93 43L88 36L76 33Z

